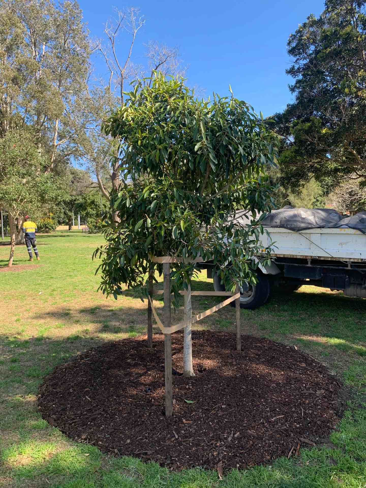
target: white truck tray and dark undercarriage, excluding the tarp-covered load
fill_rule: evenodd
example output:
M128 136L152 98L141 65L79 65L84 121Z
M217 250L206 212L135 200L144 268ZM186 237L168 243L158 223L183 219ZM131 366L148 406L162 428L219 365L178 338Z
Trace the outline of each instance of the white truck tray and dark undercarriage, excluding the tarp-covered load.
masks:
M366 298L366 234L352 228L314 228L295 232L286 228L266 227L261 237L263 247L274 243L272 263L260 265L257 285L244 285L242 308L263 305L272 288L292 292L302 285L341 290L348 297ZM219 276L213 278L214 289L224 291Z

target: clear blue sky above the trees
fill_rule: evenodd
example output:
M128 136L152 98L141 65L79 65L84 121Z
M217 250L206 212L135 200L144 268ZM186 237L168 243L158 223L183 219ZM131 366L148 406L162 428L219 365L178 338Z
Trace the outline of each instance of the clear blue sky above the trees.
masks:
M133 53L143 63L143 44L160 41L178 45L189 64L190 86L198 85L205 95L228 94L228 84L237 98L254 106L264 116L281 111L291 101L285 75L290 65L286 42L299 23L324 9L316 0L136 0L145 17ZM113 0L80 0L91 35L101 37L103 23L113 14ZM129 4L118 4L118 8ZM122 50L123 36L118 49ZM102 64L96 66L102 69Z

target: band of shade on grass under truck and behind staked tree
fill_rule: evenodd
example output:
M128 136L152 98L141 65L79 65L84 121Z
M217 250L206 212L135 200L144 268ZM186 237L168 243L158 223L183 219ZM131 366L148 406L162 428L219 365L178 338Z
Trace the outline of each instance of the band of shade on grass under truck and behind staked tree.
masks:
M156 288L162 287L159 284ZM207 289L212 285L197 281L195 289ZM163 321L163 295L155 295L157 313ZM222 302L221 297L193 296L193 314L201 313ZM58 307L40 314L34 320L52 318L68 326L93 327L97 334L144 333L147 326L147 301L137 299L131 290L123 298L104 304L84 306L78 309ZM121 305L120 305L121 304ZM183 300L176 314L172 307L172 325L183 320ZM235 329L235 310L227 305L220 311L204 319L204 328L216 330L218 323L226 321L227 330ZM339 294L295 292L289 300L288 294L277 293L270 302L255 310L241 310L242 330L256 336L267 336L279 342L289 339L299 344L312 345L318 349L318 359L322 360L324 351L334 351L366 356L366 300L344 297ZM159 330L153 318L155 330ZM196 323L193 328L202 328ZM225 327L226 329L226 327Z

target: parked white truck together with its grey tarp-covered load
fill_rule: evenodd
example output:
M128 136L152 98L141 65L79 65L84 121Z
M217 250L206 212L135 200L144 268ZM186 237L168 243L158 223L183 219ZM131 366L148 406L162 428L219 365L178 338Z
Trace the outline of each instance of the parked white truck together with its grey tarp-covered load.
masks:
M250 223L247 211L236 213L234 223ZM272 245L272 263L260 265L257 285L243 285L240 306L254 309L263 305L272 289L292 292L302 285L341 290L348 297L366 298L366 212L344 217L329 208L284 207L262 221L263 247ZM224 291L218 275L207 277L214 289Z

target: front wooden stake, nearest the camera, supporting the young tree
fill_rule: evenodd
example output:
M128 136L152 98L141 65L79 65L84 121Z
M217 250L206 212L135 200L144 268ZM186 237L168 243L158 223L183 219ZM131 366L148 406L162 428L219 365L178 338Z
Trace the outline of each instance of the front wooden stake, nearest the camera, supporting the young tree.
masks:
M170 264L163 264L164 276L164 327L170 327ZM172 336L164 334L165 356L165 417L173 413L173 386L172 386Z

